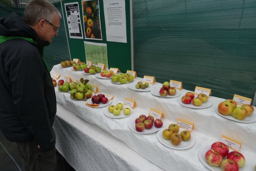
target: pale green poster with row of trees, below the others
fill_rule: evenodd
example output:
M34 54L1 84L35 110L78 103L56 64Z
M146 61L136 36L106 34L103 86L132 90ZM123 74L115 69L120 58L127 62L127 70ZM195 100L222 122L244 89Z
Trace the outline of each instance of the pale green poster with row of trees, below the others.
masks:
M93 65L103 63L108 68L107 44L84 41L84 49L86 60L92 61Z

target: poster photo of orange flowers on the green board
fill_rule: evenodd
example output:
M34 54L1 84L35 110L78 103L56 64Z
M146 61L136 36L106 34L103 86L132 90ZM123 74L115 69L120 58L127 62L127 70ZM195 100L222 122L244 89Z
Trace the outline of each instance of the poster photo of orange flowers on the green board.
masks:
M85 39L102 40L99 0L83 0L82 7Z

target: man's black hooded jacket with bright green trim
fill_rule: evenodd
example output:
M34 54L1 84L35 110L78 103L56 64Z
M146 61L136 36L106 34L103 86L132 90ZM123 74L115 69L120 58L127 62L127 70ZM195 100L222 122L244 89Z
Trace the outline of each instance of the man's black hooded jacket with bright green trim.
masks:
M9 141L34 137L42 151L55 146L56 96L42 58L49 44L16 13L0 18L0 128Z

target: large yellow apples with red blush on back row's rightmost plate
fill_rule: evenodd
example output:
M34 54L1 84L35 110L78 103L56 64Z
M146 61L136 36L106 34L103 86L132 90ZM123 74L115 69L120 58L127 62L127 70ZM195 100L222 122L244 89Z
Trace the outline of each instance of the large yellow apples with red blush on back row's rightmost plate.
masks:
M249 104L244 104L237 107L236 101L227 99L218 105L218 111L223 115L230 115L232 113L234 118L243 120L253 113L254 108Z

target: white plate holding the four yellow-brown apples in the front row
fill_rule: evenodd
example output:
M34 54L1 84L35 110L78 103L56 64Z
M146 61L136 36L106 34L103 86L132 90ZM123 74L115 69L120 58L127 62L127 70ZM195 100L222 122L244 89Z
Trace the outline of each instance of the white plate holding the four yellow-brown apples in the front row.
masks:
M190 140L181 141L181 143L179 145L173 145L170 140L166 140L163 138L163 130L165 130L165 129L166 128L162 128L157 132L157 139L160 141L160 143L162 143L166 147L169 147L172 149L188 149L188 148L192 147L196 142L195 137L193 137L193 135L191 133ZM183 131L183 130L185 130L185 129L180 128L178 133L181 133L181 131Z

